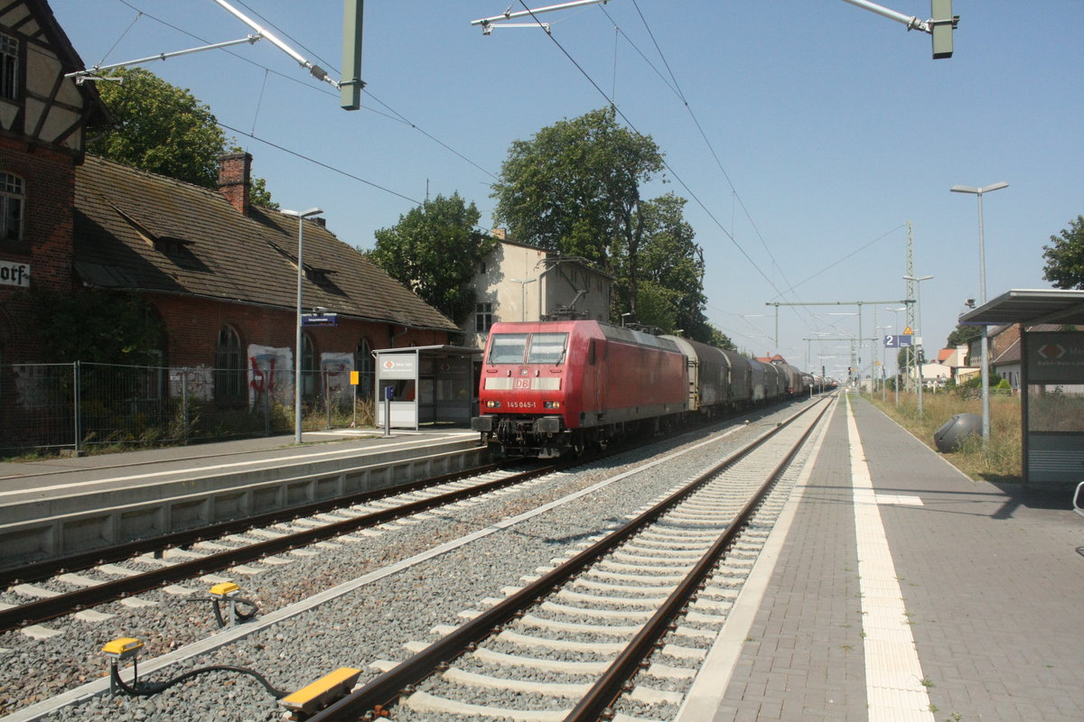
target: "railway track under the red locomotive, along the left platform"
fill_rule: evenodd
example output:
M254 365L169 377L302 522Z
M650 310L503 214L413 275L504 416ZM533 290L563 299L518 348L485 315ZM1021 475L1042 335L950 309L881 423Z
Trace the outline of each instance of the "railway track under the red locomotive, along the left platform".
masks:
M464 474L441 476L415 482L392 494L382 491L364 495L361 499L341 500L337 507L326 502L315 504L313 509L305 510L309 512L307 515L298 516L298 510L294 510L288 522L276 514L266 520L248 520L175 535L175 538L158 540L150 547L146 541L136 542L130 549L121 551L142 553L126 556L121 551L114 550L109 562L98 560L98 563L78 573L56 563L12 570L0 578L0 582L9 586L9 599L26 601L0 603L0 633L33 628L68 614L93 618L91 607L96 605L127 600L140 592L258 560L274 560L275 554L521 484L552 473L557 468L559 464L515 471L492 464L480 470L481 473L474 478L461 478ZM223 536L216 537L214 533ZM144 551L146 549L154 551ZM118 560L125 562L115 563ZM68 560L67 564L72 563ZM79 569L78 566L75 568ZM49 583L33 583L41 579ZM139 601L130 604L139 605ZM48 630L30 631L31 635L36 632L48 635Z

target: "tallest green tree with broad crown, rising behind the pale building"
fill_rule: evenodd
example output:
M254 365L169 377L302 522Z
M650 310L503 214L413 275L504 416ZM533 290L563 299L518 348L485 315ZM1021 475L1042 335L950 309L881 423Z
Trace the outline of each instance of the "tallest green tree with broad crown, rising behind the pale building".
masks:
M606 272L620 246L635 313L640 186L662 168L655 141L620 127L611 108L592 110L512 144L493 184L493 215L516 240L584 258Z

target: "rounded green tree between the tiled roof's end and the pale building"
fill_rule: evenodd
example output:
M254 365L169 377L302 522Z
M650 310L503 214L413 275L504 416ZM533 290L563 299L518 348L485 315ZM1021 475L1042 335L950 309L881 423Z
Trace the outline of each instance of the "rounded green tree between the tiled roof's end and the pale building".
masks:
M459 193L426 200L376 232L370 259L456 323L474 312L478 263L496 240L477 229L480 213Z

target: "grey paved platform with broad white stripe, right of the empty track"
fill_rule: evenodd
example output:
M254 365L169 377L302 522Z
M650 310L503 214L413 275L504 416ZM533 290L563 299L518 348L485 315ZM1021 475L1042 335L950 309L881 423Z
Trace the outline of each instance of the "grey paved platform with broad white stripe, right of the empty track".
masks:
M1084 518L841 395L681 722L1084 720Z

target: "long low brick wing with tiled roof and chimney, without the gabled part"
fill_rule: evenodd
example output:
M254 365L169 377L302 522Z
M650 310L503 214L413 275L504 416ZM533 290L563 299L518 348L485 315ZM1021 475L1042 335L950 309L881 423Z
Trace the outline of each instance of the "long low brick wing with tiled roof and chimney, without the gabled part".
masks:
M238 404L294 366L298 219L249 202L248 154L220 168L216 192L88 156L76 171L74 266L85 286L144 294L165 329L164 364L189 369L205 398ZM338 317L305 329L302 372L333 369L348 383L362 371L365 395L373 351L443 344L459 330L323 219L302 223L304 310Z

